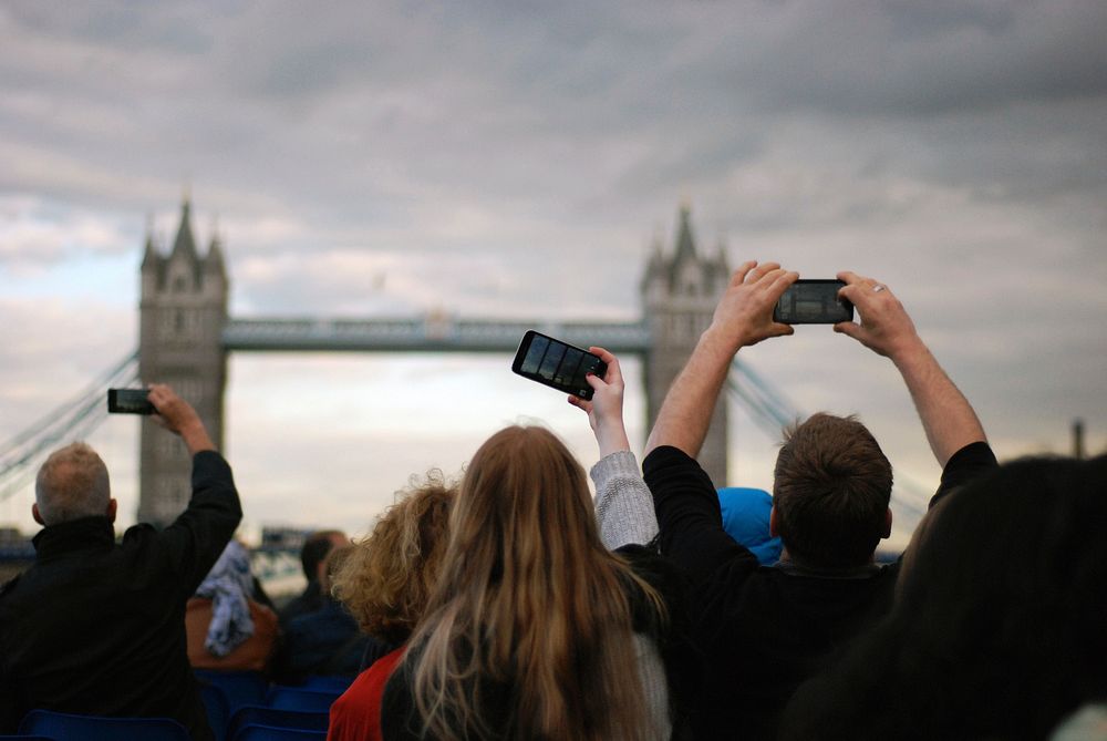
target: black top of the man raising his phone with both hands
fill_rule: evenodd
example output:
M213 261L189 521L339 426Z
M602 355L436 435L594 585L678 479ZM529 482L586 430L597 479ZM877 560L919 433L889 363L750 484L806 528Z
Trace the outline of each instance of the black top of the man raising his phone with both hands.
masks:
M931 505L994 466L986 443L961 449ZM642 471L662 552L693 583L693 640L705 657L696 738L774 739L796 687L887 611L899 562L832 572L759 566L723 529L715 487L695 460L662 446Z

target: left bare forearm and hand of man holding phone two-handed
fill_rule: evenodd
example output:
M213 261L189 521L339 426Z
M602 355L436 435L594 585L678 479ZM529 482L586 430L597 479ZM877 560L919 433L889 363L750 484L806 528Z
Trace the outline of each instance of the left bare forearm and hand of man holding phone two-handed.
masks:
M744 263L734 271L711 326L700 336L692 357L661 404L645 443L646 455L662 445L680 449L692 457L700 454L735 353L794 331L788 325L773 321L773 307L798 277L776 263Z

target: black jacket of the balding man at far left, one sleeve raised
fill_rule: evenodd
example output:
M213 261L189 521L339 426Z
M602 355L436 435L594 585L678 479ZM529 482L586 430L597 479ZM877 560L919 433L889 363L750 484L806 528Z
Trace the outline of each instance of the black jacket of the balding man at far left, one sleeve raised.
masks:
M167 717L210 739L185 648L185 601L235 534L230 466L193 460L188 508L120 543L106 517L45 527L35 563L0 590L0 733L34 708Z

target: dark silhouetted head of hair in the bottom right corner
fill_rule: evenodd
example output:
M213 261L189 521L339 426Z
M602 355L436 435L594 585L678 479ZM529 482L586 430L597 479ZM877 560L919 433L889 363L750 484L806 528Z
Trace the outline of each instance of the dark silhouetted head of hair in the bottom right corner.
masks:
M1105 532L1107 456L1016 461L951 493L892 610L800 689L787 738L1046 738L1107 697Z

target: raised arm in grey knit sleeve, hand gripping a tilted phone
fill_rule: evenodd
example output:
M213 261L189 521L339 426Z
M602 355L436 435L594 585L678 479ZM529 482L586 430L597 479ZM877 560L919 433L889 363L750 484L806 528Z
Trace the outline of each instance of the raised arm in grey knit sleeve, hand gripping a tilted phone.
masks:
M658 534L653 497L630 451L623 425L622 402L625 384L619 360L603 348L589 348L608 364L603 378L588 377L592 400L569 397L569 403L588 412L600 460L589 475L596 484L596 522L600 539L609 549L624 545L646 545Z

